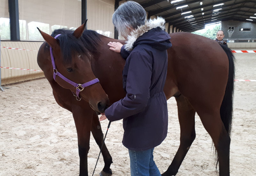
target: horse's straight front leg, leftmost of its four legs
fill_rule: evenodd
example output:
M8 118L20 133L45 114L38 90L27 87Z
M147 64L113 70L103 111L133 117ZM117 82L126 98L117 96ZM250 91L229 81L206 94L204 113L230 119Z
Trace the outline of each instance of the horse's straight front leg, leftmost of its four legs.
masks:
M85 102L84 102L85 104ZM79 176L88 176L87 156L90 149L90 135L93 110L84 104L72 105L72 113L76 124L78 153L80 158Z

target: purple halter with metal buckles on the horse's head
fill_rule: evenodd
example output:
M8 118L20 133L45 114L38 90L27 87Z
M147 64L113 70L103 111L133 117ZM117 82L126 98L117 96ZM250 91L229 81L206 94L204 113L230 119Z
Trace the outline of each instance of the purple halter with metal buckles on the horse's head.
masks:
M58 36L60 36L61 34L58 34L57 36L55 36L54 38L57 38ZM79 93L81 91L84 90L85 87L98 83L99 79L95 78L92 81L86 82L84 84L76 84L75 82L69 80L68 78L66 78L65 76L61 75L60 72L57 71L56 66L55 66L55 62L54 62L54 57L52 54L52 47L50 46L50 54L51 54L51 59L52 59L52 67L53 67L53 79L56 79L56 75L59 76L61 79L63 79L64 81L66 81L67 83L73 85L74 87L76 87L76 94L74 92L73 95L76 96L76 100L80 101L81 97L79 97Z

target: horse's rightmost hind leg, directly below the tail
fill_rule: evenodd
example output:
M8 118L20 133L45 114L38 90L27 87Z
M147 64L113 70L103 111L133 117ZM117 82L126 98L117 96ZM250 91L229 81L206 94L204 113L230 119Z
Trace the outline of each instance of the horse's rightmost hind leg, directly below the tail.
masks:
M220 176L229 176L230 137L220 118L220 109L197 111L205 130L210 134L219 158Z

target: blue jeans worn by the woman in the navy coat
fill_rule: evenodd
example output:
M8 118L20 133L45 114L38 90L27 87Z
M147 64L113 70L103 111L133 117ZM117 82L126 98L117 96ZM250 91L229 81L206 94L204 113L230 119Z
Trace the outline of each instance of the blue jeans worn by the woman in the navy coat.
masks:
M154 148L148 150L129 150L131 176L161 176L153 160Z

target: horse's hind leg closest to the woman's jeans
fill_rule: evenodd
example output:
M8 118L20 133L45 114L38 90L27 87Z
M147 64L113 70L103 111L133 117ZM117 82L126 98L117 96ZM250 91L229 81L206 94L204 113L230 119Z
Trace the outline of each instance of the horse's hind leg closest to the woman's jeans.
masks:
M180 95L176 98L178 107L178 116L180 122L180 147L174 156L171 165L162 176L176 175L180 165L185 158L188 149L196 138L195 132L195 113L187 98Z

